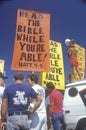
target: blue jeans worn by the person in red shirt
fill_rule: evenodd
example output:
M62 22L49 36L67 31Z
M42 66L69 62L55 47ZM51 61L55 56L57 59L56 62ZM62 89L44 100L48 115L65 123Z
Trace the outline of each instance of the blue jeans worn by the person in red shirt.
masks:
M60 123L61 123L62 117L63 117L62 113L53 113L52 114L52 123L53 123L54 130L61 130Z

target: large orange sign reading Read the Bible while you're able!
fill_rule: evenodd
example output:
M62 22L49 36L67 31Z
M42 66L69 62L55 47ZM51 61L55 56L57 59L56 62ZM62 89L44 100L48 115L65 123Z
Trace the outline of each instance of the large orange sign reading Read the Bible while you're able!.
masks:
M50 14L18 10L12 70L50 70Z

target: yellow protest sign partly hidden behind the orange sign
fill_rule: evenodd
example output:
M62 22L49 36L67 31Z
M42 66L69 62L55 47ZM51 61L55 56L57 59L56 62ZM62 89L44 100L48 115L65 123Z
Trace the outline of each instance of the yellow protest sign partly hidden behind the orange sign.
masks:
M41 85L46 87L47 82L53 82L56 89L64 90L65 76L63 64L63 52L61 43L50 41L50 72L41 72Z

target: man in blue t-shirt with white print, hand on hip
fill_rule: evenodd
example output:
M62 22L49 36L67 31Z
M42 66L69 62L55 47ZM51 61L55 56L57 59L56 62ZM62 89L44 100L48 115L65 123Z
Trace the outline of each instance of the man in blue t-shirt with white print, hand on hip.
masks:
M2 106L1 120L5 122L6 130L29 130L28 112L34 113L41 104L41 97L31 88L24 85L24 76L18 72L14 75L14 83L5 88ZM30 97L36 99L35 106L28 111Z

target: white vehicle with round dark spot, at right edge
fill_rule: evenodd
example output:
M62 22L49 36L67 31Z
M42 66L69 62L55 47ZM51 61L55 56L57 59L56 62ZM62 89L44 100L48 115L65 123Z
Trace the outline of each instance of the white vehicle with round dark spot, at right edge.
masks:
M86 80L66 85L63 113L67 130L86 130Z

